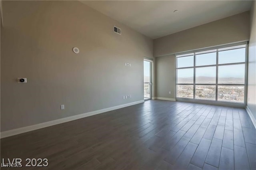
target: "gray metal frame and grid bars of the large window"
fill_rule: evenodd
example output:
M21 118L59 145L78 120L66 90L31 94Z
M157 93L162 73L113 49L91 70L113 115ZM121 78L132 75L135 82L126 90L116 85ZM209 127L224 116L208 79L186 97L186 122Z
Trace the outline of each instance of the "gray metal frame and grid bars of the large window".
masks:
M243 46L242 46L243 45ZM238 47L237 47L238 46ZM233 48L232 48L233 47ZM229 48L229 49L224 49L223 48ZM226 50L233 50L233 49L240 49L240 48L245 48L245 61L244 62L238 62L238 63L224 63L224 64L219 64L218 63L218 52L219 51L226 51ZM216 52L216 64L214 65L200 65L196 66L196 54L205 54L204 53L212 53ZM177 58L178 57L187 57L193 55L194 57L194 65L192 67L180 67L178 68L178 63L177 63ZM238 64L244 64L244 83L239 84L230 84L230 83L219 83L218 82L218 67L219 66L224 66L224 65L238 65ZM216 83L196 83L196 68L199 67L216 67ZM194 68L194 81L193 83L177 83L178 82L178 69L186 69L186 68ZM242 43L233 43L230 45L220 45L216 47L210 47L210 48L204 48L201 50L193 50L193 51L186 51L183 53L178 53L175 54L175 99L176 101L185 101L185 102L194 102L194 103L202 103L202 104L214 104L214 105L223 105L223 106L230 106L230 107L245 107L247 105L247 82L248 82L248 42L242 42ZM178 93L178 85L193 85L194 87L194 93L193 93L193 99L191 98L184 98L184 97L177 97ZM196 85L214 85L216 87L215 90L215 100L208 100L208 99L196 99ZM234 102L234 101L218 101L218 86L225 86L225 85L230 85L230 86L244 86L244 103L241 102Z

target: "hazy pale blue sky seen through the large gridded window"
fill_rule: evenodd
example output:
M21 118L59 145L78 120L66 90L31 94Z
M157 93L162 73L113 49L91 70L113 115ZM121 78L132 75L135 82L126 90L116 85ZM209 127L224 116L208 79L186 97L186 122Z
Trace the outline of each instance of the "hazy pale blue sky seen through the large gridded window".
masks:
M245 48L218 52L218 63L238 63L245 61ZM191 67L194 65L194 57L177 58L177 67ZM196 66L216 64L216 52L196 55ZM194 69L178 69L178 77L193 77ZM244 64L225 65L218 67L219 77L243 78L245 73ZM196 68L196 76L216 76L216 67Z

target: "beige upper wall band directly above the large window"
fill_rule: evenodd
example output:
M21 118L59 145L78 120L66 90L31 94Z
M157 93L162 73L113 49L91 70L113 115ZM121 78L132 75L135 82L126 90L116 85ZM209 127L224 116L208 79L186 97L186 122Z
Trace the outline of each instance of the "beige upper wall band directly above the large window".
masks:
M154 57L249 40L250 13L243 12L154 40Z

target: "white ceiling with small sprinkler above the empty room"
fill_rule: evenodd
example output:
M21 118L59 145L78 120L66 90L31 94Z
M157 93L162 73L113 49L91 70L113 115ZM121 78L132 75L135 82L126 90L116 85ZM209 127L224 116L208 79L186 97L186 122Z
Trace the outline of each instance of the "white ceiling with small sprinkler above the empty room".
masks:
M82 0L91 8L152 38L250 10L246 0ZM178 12L173 12L178 10Z

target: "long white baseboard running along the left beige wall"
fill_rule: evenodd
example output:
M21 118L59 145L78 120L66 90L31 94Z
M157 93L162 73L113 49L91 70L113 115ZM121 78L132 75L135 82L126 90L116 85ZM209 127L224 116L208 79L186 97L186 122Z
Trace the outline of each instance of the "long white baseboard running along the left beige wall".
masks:
M39 124L36 124L36 125L27 126L27 127L21 127L21 128L16 128L16 129L12 129L12 130L7 130L7 131L4 131L4 132L0 132L0 138L6 138L8 136L21 134L21 133L29 132L29 131L36 130L36 129L50 127L50 126L53 126L53 125L58 125L60 123L65 123L65 122L69 122L69 121L74 121L76 119L81 119L81 118L84 118L84 117L97 115L97 114L108 112L108 111L113 111L113 110L120 109L120 108L123 108L123 107L137 105L139 103L144 103L144 100L140 100L140 101L136 101L136 102L132 102L132 103L127 103L127 104L124 104L124 105L118 105L118 106L114 106L114 107L108 107L106 109L100 109L100 110L97 110L97 111L83 113L83 114L80 114L80 115L74 115L74 116L65 117L65 118L62 118L62 119L56 119L56 120L53 120L53 121L39 123Z

